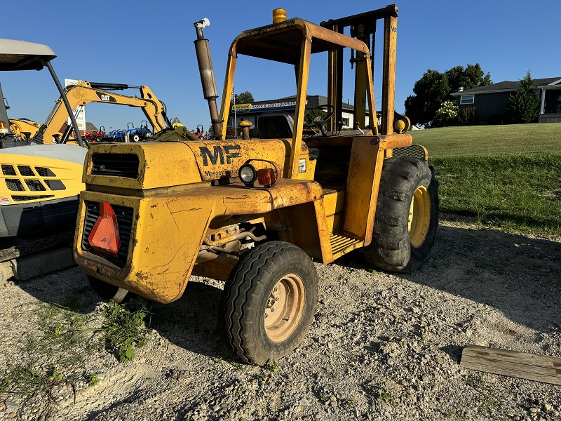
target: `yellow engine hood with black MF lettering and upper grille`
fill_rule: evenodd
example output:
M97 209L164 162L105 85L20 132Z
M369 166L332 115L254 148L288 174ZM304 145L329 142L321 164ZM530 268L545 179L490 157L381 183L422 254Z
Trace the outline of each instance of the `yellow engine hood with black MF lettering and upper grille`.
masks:
M92 145L83 182L126 189L154 189L229 179L254 160L282 171L288 142L283 140L180 140ZM290 152L288 153L290 154Z

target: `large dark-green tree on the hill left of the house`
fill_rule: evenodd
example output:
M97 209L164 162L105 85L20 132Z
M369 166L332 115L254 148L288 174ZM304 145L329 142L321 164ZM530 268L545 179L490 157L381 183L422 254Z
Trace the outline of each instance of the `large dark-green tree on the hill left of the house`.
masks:
M485 86L492 83L491 75L485 74L479 63L452 67L444 73L428 69L414 84L413 93L405 100L405 114L413 124L431 126L436 112L446 101L456 101L451 95L459 90Z

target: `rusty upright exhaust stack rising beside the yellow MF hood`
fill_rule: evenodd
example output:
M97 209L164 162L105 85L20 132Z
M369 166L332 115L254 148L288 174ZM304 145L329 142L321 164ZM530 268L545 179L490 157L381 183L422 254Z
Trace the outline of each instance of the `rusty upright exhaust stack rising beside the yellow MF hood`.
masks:
M201 83L203 85L203 95L208 101L208 109L210 111L210 121L212 122L212 131L215 138L222 140L222 120L219 119L216 98L218 93L216 89L215 71L212 67L212 57L210 56L210 47L208 39L203 35L203 28L210 25L207 18L195 22L194 27L197 32L195 42L195 51L197 55L198 72L201 74Z

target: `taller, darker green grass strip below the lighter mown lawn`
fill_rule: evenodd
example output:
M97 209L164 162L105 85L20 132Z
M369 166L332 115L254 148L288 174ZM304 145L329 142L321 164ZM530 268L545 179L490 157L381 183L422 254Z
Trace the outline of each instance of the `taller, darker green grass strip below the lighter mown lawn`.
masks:
M484 225L561 234L561 154L434 158L440 210Z

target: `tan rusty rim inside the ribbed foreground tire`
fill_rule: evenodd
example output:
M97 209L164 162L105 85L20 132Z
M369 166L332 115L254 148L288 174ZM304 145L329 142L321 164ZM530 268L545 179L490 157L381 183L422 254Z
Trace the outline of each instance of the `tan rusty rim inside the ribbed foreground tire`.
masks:
M304 282L296 274L280 279L271 290L265 307L265 332L281 342L295 330L304 310Z

